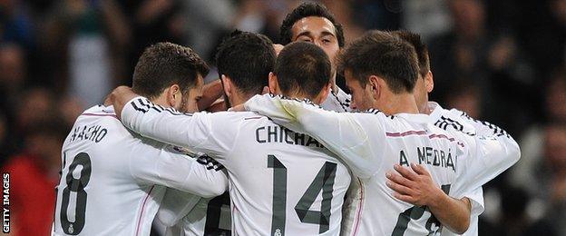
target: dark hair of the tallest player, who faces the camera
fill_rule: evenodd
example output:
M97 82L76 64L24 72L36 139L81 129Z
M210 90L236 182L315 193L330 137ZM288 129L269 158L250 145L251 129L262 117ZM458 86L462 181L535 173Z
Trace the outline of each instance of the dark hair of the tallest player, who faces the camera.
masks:
M293 33L291 32L291 28L293 28L293 25L295 25L298 20L308 16L327 18L336 29L338 46L344 46L344 29L342 28L342 25L337 23L334 15L330 11L328 11L327 6L309 2L298 5L297 8L293 9L291 13L285 16L285 20L283 20L283 24L281 24L281 28L279 29L281 44L285 45L293 41Z

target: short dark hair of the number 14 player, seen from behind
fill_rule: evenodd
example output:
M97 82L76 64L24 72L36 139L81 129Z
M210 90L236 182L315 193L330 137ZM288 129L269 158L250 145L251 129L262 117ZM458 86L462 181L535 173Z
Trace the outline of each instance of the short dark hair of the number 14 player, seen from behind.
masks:
M313 98L330 83L330 68L330 60L320 47L295 42L281 50L274 73L281 92L299 91Z

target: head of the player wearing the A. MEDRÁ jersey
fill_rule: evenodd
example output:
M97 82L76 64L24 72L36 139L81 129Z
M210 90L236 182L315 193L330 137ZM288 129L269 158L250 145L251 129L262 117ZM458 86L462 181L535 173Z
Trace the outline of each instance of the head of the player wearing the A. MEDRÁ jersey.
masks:
M339 59L352 92L353 109L384 109L393 96L413 93L418 77L415 49L392 34L369 31Z

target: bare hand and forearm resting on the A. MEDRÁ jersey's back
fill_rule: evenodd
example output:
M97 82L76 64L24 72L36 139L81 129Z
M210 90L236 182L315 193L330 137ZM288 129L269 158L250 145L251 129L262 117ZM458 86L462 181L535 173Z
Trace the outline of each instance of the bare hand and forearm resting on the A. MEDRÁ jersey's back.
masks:
M472 202L464 197L448 196L433 181L422 165L411 163L408 168L395 164L396 172L386 172L387 186L394 190L394 197L417 206L427 206L448 230L461 234L470 226Z

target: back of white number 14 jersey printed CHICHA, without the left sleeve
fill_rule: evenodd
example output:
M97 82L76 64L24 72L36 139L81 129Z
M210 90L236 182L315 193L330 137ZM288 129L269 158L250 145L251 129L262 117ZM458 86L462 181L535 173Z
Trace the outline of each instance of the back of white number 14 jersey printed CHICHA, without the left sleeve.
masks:
M339 234L350 174L336 155L256 113L210 121L223 132L211 136L231 140L215 157L229 172L235 235Z

